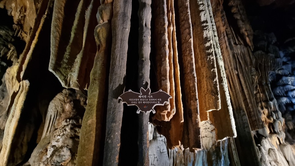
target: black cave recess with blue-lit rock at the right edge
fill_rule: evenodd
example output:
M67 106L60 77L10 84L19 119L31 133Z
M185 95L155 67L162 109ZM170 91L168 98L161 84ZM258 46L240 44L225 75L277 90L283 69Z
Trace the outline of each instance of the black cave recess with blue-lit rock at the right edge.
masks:
M268 80L279 111L285 119L285 141L295 143L295 3L278 6L276 2L260 6L246 3L253 29L253 52L262 51L275 58ZM291 122L291 123L290 123ZM268 125L273 129L273 125Z

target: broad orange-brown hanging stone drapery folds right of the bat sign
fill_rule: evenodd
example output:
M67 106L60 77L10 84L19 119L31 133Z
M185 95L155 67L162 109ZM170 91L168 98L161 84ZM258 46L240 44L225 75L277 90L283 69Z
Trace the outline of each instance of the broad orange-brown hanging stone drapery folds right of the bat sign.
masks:
M179 109L179 107L175 110L173 107L172 108L168 107L166 109L170 109L170 112L175 112L173 114L169 114L170 117L172 117L171 120L169 122L165 122L167 120L165 118L159 117L157 113L154 117L155 118L154 122L158 125L165 126L165 127L159 128L159 131L160 133L166 136L169 147L180 146L181 144L183 144L185 147L191 147L191 150L193 148L201 149L202 141L201 141L200 135L202 135L202 133L200 133L200 130L204 131L204 135L206 135L205 134L206 130L209 130L209 128L206 127L207 124L211 125L210 130L216 130L215 132L217 133L217 140L222 140L226 137L235 137L236 135L235 124L234 124L232 108L230 104L227 80L225 78L225 71L224 71L224 64L223 64L224 62L222 60L219 44L217 41L218 38L217 38L217 33L215 28L215 22L213 19L211 4L209 1L190 1L189 3L187 1L177 1L177 4L178 4L177 6L174 6L174 5L171 5L170 3L170 5L168 6L165 3L163 3L161 6L165 7L166 5L166 8L169 9L167 11L177 10L177 13L179 14L179 19L180 19L180 22L177 22L178 23L177 27L179 26L181 31L181 34L178 34L178 35L179 35L179 38L181 38L181 42L176 43L175 41L174 43L172 42L172 40L167 40L168 45L167 43L166 44L164 43L161 46L161 44L157 44L157 42L155 42L155 46L156 46L156 49L158 50L164 50L161 55L165 55L164 53L165 52L167 53L168 51L166 56L168 60L168 64L174 65L175 63L177 63L176 65L178 66L178 63L180 63L180 66L182 66L182 68L180 68L180 75L176 75L178 74L177 67L176 69L169 68L170 72L175 71L175 74L173 75L170 74L169 77L173 76L175 78L170 79L167 77L165 80L166 81L170 80L171 82L174 82L174 80L177 81L178 78L180 77L180 80L184 80L184 82L182 83L183 86L181 87L180 84L175 84L176 85L175 86L173 83L170 84L170 86L169 84L167 85L165 84L165 85L168 86L169 89L174 88L174 86L175 86L175 89L181 89L181 88L184 89L183 90L184 94L181 95L182 101L176 100L177 102L176 104L178 106L179 105L181 106L182 103L185 103L184 105L187 107L184 108L185 112L182 112L182 109L181 108ZM155 6L158 6L158 5L156 4ZM155 7L155 12L157 12L157 10L160 10L160 9ZM164 9L163 11L166 11L166 10ZM160 15L158 16L159 18L163 19L163 22L165 23L166 17L167 15L169 16L170 13L164 12L162 14L163 16L160 16ZM200 17L199 15L201 15L202 17ZM170 20L170 17L168 20ZM175 16L171 18L173 18L172 23L174 23ZM168 21L168 23L170 22ZM168 34L168 37L169 37L170 33L166 29L166 26L160 26L160 24L157 22L157 18L155 20L155 24L156 24L155 31L157 31L156 36L162 35L163 38L167 38L166 34ZM173 26L172 24L172 26L170 26L169 29L172 29L172 31L177 32L177 27ZM204 31L202 29L204 29ZM198 34L198 33L202 33L202 34ZM155 40L159 41L158 38L155 38ZM164 42L164 41L165 40L162 40L161 42ZM173 54L173 56L175 55L176 57L178 55L177 55L177 52L174 54L174 52L171 51L171 49L169 50L169 45L173 45L173 47L177 47L176 44L180 45L181 47L181 49L178 50L180 51L180 53L179 52L178 53L182 57L178 58L180 59L179 62L178 61L172 62L171 60L169 61L169 54ZM167 46L168 46L167 48L168 50L167 49L165 50L164 48L166 48ZM163 74L163 76L161 77L159 76L159 78L161 79L165 78L164 75L168 75L168 74L165 74L166 70L162 70L161 68L165 66L164 64L162 64L162 62L164 63L166 61L157 60L158 73L160 72ZM206 75L206 79L203 79L205 75ZM159 78L158 80L160 80ZM162 83L161 84L159 83L159 87L160 88L162 87L162 89L165 89L163 88L165 86L163 86ZM179 95L179 92L180 91L176 93L176 96ZM180 94L181 93L182 92L180 92ZM221 99L220 99L220 94L222 97ZM221 105L221 102L222 102L222 105ZM211 105L211 104L215 104L215 105ZM170 106L171 106L171 100L170 100ZM213 111L213 110L216 110L216 111ZM167 113L161 113L161 114L168 115ZM175 114L176 114L176 117L174 118L173 116ZM185 117L187 115L190 115L190 116ZM184 127L182 128L182 119L179 117L183 117L183 116L184 116ZM202 121L207 121L207 122L202 122ZM220 123L222 125L220 125ZM216 127L214 127L214 124L216 125ZM165 128L170 128L170 129L169 131L167 131ZM184 133L182 133L182 131L184 131ZM171 135L171 133L179 133L179 134ZM206 148L210 148L212 146L212 143L216 139L215 134L211 134L210 137L212 137L212 139L214 140L203 139L203 141L205 142L206 141L211 142L211 145L209 145L210 143L209 144L205 143ZM197 141L198 143L195 141Z

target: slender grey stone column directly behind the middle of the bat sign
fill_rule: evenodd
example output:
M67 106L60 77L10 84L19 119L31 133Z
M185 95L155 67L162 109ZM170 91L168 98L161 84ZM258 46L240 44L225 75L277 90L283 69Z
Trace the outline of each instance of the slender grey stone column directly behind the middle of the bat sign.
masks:
M138 88L150 87L150 52L151 52L151 0L139 0L139 37L138 37ZM149 162L148 120L150 113L138 114L138 163L147 166Z

